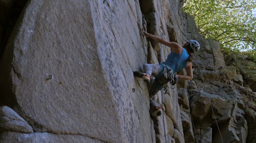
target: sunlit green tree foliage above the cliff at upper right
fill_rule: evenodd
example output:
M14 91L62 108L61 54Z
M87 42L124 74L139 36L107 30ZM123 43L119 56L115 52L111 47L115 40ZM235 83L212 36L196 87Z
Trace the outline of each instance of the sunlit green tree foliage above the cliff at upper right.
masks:
M252 55L256 40L256 17L252 13L255 7L255 0L187 0L183 10L194 16L200 33L220 41L225 52L249 50L247 54Z

